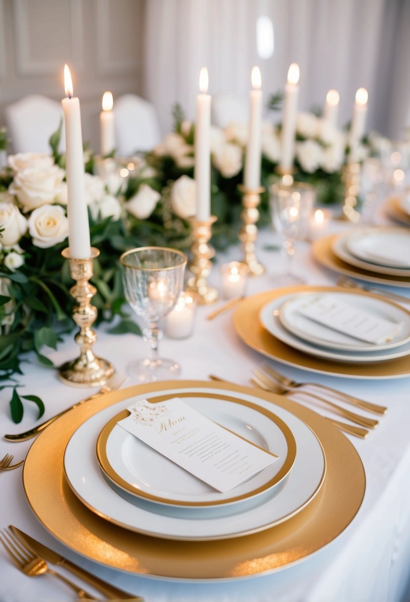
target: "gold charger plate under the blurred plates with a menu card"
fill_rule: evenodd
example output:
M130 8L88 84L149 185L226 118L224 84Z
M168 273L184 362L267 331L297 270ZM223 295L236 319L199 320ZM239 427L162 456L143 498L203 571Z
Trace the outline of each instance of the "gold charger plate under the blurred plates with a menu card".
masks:
M277 297L290 293L299 292L335 292L346 293L347 289L342 287L315 287L299 285L297 287L277 288L266 293L259 293L252 297L247 297L239 303L233 315L233 325L239 337L248 345L268 356L276 359L278 362L303 368L311 372L320 372L331 374L332 376L341 376L349 378L371 378L371 379L389 379L399 378L401 376L410 376L410 355L402 358L389 359L383 362L374 362L373 364L347 364L346 362L331 361L308 355L282 343L266 330L259 320L259 312L266 303L269 303ZM349 289L350 292L351 289ZM363 294L376 299L385 299L373 293L367 293L359 289L354 290L355 294ZM390 301L389 301L390 303ZM400 307L400 309L403 309Z

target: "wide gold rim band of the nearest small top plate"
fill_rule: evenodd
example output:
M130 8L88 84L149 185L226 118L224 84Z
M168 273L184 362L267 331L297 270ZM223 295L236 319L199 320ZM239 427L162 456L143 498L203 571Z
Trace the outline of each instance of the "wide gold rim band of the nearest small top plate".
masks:
M189 397L189 394L184 393L184 394L179 395L179 397ZM114 427L117 425L118 421L123 420L123 418L127 418L130 414L130 412L128 410L123 410L121 412L118 412L117 415L115 415L113 418L111 418L111 420L108 421L108 423L105 425L105 427L103 427L103 429L100 432L99 437L97 439L97 445L96 445L97 460L100 464L100 468L102 468L102 470L106 474L106 476L112 482L114 482L115 485L117 485L121 489L124 489L125 491L128 491L134 495L138 495L138 497L142 497L147 500L158 501L161 503L175 505L175 506L208 507L208 506L219 506L221 504L230 504L230 503L234 503L236 501L246 500L250 497L253 497L254 495L259 495L260 493L267 491L274 485L277 485L277 483L280 483L280 481L283 480L287 476L287 474L289 474L289 472L292 469L292 466L295 462L295 458L296 458L296 441L295 441L295 437L292 435L291 430L289 429L287 424L284 423L283 420L281 420L281 418L279 418L278 416L273 414L273 412L269 412L266 408L263 408L262 406L257 406L254 403L246 402L245 400L240 400L237 397L229 397L229 396L218 395L218 394L213 395L211 393L197 393L197 394L195 394L195 397L200 397L200 398L206 397L207 399L210 399L210 398L222 399L227 402L238 403L239 405L244 405L248 408L254 409L255 411L257 411L260 414L263 414L264 416L269 418L269 420L271 420L274 424L276 424L277 427L283 433L284 438L286 439L286 444L287 444L286 459L283 463L283 466L280 468L280 470L277 472L277 474L275 474L275 476L272 477L272 479L269 479L266 483L259 486L258 488L253 489L252 491L249 491L245 494L236 495L234 497L227 498L225 500L197 501L197 502L181 501L181 500L173 500L172 498L169 498L169 497L168 498L159 497L158 495L150 494L148 491L141 491L141 489L134 487L131 483L128 483L126 480L124 480L122 477L120 477L119 474L117 474L117 472L114 470L114 468L112 468L111 463L109 462L109 459L108 459L108 456L106 453L106 444L108 441L108 437L109 437L110 433L112 432L112 429L114 429ZM171 398L171 396L167 397L167 399L170 399L170 398ZM150 403L159 403L162 400L163 400L162 398L161 399L156 398L155 400L149 399L148 401ZM240 437L240 438L243 439L243 437ZM262 447L252 443L251 441L248 441L248 442L251 443L252 445L254 445L255 447L259 447L260 449L263 449ZM264 450L264 451L266 451L266 450Z

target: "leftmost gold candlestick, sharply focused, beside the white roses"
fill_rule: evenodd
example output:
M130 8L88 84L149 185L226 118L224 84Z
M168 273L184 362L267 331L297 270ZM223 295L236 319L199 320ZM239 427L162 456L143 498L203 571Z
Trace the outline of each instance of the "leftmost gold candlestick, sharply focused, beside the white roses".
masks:
M78 359L66 362L58 372L58 376L67 385L73 386L103 386L114 374L112 365L93 353L93 345L97 335L91 328L97 317L97 309L91 305L91 299L97 289L88 282L93 276L93 259L100 254L98 249L91 247L91 257L88 259L70 258L70 249L64 249L61 255L69 260L70 276L76 284L70 289L78 305L73 308L73 320L80 327L75 336L75 342L80 347Z

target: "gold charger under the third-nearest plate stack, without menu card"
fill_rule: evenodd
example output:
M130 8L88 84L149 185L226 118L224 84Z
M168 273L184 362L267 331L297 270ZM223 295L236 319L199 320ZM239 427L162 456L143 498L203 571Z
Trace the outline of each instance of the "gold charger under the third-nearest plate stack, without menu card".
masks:
M410 288L410 276L391 276L388 274L376 276L374 272L369 272L363 268L358 268L341 261L332 251L332 245L337 237L337 234L325 236L313 242L312 252L316 261L329 268L329 270L350 276L350 278L357 278L366 282L376 282L376 284L387 284L392 287Z

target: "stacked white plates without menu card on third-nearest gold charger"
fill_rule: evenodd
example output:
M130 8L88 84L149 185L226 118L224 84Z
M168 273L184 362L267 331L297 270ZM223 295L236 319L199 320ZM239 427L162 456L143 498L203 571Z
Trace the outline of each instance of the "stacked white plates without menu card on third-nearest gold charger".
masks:
M380 226L337 237L334 254L349 265L388 276L410 276L410 232Z

